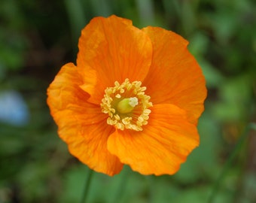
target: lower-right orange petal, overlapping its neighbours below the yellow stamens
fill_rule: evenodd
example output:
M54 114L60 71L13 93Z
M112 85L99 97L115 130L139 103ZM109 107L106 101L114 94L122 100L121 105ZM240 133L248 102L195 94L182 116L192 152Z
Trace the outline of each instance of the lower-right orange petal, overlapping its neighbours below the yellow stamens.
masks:
M174 174L199 145L197 128L175 105L154 105L142 132L117 130L108 150L141 174Z

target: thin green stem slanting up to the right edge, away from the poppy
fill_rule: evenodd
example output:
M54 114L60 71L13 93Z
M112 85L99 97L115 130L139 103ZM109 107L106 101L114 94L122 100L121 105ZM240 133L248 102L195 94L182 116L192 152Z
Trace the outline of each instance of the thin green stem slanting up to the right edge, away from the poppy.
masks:
M242 144L245 141L245 138L247 138L248 132L254 129L256 131L256 124L255 123L249 123L248 126L246 126L245 131L242 133L242 135L240 136L236 147L233 149L232 153L230 154L230 156L227 159L227 162L224 164L224 168L221 171L220 176L218 177L217 181L215 182L215 185L213 186L212 189L212 193L209 197L209 203L212 203L214 201L215 195L218 192L218 188L221 184L221 180L224 179L224 176L227 174L228 169L230 168L230 166L232 165L233 160L236 158L237 153L239 153L239 150L242 147Z

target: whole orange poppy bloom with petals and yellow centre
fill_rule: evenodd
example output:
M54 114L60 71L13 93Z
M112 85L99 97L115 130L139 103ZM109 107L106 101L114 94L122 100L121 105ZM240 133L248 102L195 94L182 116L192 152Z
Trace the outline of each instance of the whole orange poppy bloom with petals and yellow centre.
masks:
M130 20L96 17L83 29L77 65L47 89L69 151L95 171L174 174L199 145L206 81L187 41Z

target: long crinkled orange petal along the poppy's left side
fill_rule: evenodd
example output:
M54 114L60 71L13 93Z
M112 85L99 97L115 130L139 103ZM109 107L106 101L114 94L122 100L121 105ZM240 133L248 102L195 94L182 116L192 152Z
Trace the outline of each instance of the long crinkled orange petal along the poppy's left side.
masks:
M99 105L87 102L89 95L80 88L83 83L72 63L62 66L47 89L47 104L58 128L59 137L69 151L95 171L113 175L123 164L107 150L108 136L114 132L106 123Z

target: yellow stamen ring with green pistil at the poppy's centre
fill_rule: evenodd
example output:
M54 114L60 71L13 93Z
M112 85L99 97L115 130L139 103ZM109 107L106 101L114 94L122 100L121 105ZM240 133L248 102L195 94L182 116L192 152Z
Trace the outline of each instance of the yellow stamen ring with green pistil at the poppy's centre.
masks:
M146 87L142 82L129 79L123 83L114 82L113 87L105 89L101 108L104 114L108 114L108 125L117 129L133 129L142 131L142 126L148 124L148 115L152 107L150 96L145 95Z

